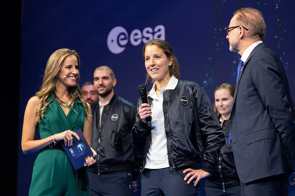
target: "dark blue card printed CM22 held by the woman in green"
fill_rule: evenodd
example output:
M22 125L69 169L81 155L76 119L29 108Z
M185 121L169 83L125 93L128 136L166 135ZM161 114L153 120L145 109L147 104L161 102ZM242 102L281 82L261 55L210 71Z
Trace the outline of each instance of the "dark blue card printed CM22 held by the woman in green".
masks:
M73 136L73 146L72 148L68 148L65 146L64 142L61 142L65 153L68 155L71 163L73 164L75 170L84 166L85 158L87 156L93 156L92 150L90 149L81 129L75 131L77 135L80 137L81 141L79 141L75 136ZM94 157L95 159L95 157Z

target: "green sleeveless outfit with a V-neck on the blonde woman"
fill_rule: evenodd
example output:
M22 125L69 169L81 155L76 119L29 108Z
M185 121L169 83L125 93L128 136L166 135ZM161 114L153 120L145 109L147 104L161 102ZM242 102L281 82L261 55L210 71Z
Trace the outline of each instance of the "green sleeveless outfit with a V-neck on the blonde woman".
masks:
M83 130L86 112L80 100L73 105L78 114L70 108L67 116L54 100L53 93L47 99L50 100L53 101L49 103L44 118L37 124L41 139L65 130ZM81 184L82 180L78 180L78 195L89 195L88 176L87 191L81 190ZM29 195L76 195L76 170L64 150L45 148L40 151L33 167Z

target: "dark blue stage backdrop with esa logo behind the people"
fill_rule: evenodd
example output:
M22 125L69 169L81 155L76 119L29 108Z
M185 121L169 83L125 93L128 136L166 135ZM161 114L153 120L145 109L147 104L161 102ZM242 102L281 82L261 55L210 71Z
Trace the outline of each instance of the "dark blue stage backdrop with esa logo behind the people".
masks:
M59 48L79 53L80 84L93 80L96 67L110 66L117 78L117 94L137 103L138 85L145 83L146 74L142 47L150 39L164 39L174 48L181 79L203 86L213 103L214 89L236 80L240 55L229 51L224 27L228 27L233 12L245 6L263 12L267 26L264 42L281 57L295 99L294 1L23 0L18 195L28 195L37 156L22 153L24 110L29 98L40 88L51 53Z

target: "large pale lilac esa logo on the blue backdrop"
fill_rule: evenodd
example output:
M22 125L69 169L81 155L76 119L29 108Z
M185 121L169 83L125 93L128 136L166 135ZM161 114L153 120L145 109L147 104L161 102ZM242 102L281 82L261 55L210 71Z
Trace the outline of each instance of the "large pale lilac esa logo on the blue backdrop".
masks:
M163 25L158 25L154 29L146 27L142 32L139 29L134 29L131 31L129 39L126 29L116 26L109 32L106 43L111 53L119 54L125 50L124 46L129 40L133 46L138 46L141 42L147 43L151 39L165 40L165 27Z

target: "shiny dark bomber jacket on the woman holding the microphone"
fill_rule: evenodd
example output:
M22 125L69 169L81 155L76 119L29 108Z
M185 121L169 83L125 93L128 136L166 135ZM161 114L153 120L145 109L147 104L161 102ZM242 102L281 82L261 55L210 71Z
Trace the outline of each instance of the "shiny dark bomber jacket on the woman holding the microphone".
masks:
M148 97L149 104L152 100ZM137 103L137 111L142 104ZM174 90L163 93L163 112L170 170L197 169L203 157L202 170L212 173L220 148L225 144L223 129L203 87L192 81L178 81ZM141 172L151 144L151 129L137 112L131 132L133 148L141 152Z

